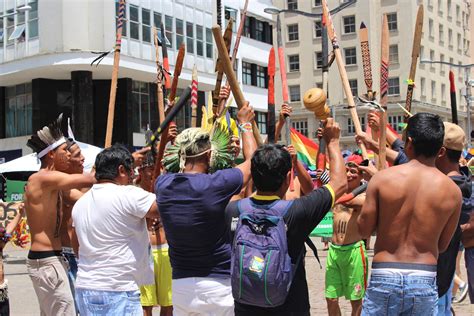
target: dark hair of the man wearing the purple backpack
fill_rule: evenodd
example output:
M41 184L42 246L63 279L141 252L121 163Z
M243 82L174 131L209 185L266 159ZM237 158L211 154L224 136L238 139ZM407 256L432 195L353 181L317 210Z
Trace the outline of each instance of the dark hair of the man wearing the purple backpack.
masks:
M277 191L291 169L291 156L282 145L263 145L252 157L251 172L257 190Z

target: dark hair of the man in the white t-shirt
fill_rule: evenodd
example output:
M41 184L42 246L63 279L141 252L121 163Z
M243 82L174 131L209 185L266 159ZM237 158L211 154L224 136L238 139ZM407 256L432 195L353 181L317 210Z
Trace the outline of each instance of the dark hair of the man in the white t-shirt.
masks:
M97 180L114 180L118 168L122 165L127 171L133 168L133 156L120 144L102 150L95 159L95 178Z

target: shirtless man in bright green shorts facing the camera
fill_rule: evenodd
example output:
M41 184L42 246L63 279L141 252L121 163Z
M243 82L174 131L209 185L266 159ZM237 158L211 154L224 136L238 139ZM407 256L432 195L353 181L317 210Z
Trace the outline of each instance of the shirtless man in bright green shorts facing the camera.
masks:
M359 155L346 159L347 192L357 188L363 174L358 166ZM367 283L367 254L357 227L357 217L364 204L365 194L360 194L348 203L334 206L332 244L326 263L326 302L330 316L341 315L339 297L351 301L352 315L360 315L362 298Z

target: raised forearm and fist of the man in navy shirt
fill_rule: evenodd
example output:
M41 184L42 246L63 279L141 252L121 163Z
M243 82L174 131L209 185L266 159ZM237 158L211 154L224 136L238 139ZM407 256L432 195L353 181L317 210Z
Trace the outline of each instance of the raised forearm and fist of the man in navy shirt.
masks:
M253 153L257 149L257 142L253 136L252 121L255 117L253 109L249 106L248 102L245 102L244 106L237 113L237 120L239 123L239 129L242 135L242 147L244 152L245 161L237 166L243 175L243 185L246 186L252 177L250 173L250 161Z

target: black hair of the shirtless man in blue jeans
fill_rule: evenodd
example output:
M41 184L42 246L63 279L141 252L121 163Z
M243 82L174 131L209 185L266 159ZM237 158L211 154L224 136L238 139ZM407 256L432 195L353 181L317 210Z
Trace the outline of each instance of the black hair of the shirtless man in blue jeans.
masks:
M416 156L435 157L443 146L443 121L436 114L417 113L408 120L407 137L412 139Z

